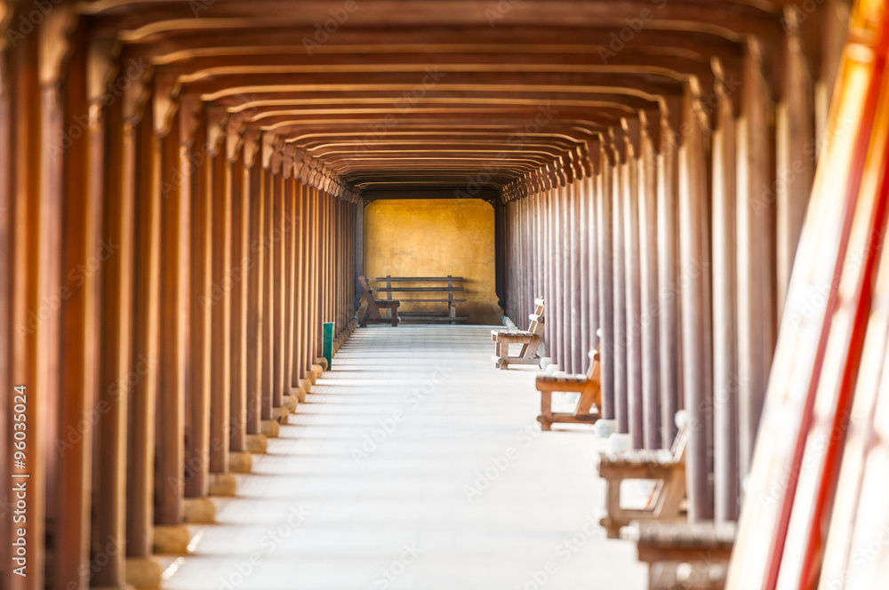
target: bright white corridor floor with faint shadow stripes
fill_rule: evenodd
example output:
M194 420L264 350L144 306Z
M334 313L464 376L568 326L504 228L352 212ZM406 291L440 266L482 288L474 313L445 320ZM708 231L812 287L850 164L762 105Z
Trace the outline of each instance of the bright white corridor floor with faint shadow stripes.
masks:
M164 588L645 588L597 524L604 442L541 433L534 372L491 355L490 327L357 330Z

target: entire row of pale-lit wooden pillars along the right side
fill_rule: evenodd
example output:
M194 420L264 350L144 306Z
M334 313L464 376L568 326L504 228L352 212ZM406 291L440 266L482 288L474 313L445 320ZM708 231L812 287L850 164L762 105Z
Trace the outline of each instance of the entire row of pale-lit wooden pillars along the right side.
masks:
M712 96L685 85L589 140L589 161L519 179L498 208L507 315L526 325L546 297L561 370L599 350L599 410L636 448L669 448L687 411L693 521L738 517L826 128L842 36L813 71L793 31L782 85L751 40L738 71L714 60Z

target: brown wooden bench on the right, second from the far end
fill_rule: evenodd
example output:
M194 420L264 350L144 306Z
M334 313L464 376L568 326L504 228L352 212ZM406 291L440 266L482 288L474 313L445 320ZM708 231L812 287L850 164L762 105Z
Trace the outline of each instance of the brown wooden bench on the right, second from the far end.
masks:
M541 392L541 415L537 421L541 430L549 430L553 422L563 424L593 424L600 418L602 389L599 384L599 351L589 352L589 371L586 375L538 375L537 390ZM554 392L578 393L574 411L553 412Z

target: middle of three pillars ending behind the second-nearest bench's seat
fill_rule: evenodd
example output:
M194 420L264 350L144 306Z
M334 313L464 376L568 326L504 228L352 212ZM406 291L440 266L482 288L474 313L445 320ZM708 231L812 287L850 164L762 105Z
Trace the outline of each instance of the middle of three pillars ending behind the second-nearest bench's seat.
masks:
M657 155L652 135L661 137L661 117L642 114L643 133L638 158L639 195L639 337L646 449L669 447L661 439L661 342L658 301ZM652 125L656 127L652 130Z

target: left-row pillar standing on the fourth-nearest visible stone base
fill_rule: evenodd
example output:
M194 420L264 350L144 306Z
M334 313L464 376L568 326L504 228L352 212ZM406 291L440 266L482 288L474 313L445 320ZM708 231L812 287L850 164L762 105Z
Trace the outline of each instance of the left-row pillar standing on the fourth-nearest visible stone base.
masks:
M221 114L216 115L220 117ZM215 117L214 117L215 118ZM231 419L231 283L232 207L228 186L228 157L223 141L223 121L214 120L208 130L212 166L207 196L211 203L212 307L210 309L210 471L228 473Z

